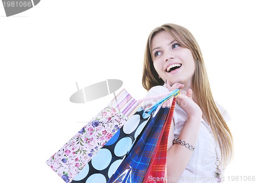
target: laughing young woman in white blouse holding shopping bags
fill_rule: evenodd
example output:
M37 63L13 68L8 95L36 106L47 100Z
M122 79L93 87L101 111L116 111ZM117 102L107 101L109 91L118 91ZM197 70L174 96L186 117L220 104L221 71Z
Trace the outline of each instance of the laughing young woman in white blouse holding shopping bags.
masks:
M181 91L168 137L168 180L220 182L233 153L229 116L212 98L201 50L187 29L165 24L151 32L142 84Z

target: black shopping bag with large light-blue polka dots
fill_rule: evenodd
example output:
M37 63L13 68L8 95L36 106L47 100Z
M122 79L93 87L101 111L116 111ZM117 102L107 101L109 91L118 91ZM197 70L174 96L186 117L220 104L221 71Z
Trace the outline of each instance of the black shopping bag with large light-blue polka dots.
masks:
M139 110L120 128L110 141L91 159L86 167L80 171L80 173L73 179L72 183L108 182L122 163L123 159L136 144L142 130L151 118L152 112L155 111L156 113L156 107L172 97L172 95L167 97L162 96L164 99L149 108L147 113L142 108L139 108ZM144 98L140 100L140 102L146 99L147 98Z

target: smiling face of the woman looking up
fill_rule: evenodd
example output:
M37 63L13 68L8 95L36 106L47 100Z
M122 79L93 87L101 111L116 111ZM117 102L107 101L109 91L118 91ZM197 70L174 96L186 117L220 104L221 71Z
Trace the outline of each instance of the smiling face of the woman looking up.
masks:
M176 37L179 37L174 33ZM151 42L153 64L159 77L170 85L182 83L191 87L195 73L195 61L191 51L177 42L166 31L157 33Z

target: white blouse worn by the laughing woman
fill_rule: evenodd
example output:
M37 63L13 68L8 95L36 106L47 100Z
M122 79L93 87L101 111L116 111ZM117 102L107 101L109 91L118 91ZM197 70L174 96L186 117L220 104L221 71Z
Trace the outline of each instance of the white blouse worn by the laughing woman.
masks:
M227 111L218 103L216 104L225 121L230 120ZM177 103L174 109L173 120L174 136L179 137L181 130L187 121L187 114ZM217 182L217 179L215 178L217 159L215 147L217 147L219 157L221 157L221 154L220 147L219 145L216 146L216 144L218 144L218 142L215 142L215 138L210 126L203 119L201 119L198 140L195 146L196 149L193 152L186 169L181 174L178 180L179 183ZM222 167L220 167L220 169L222 170Z

